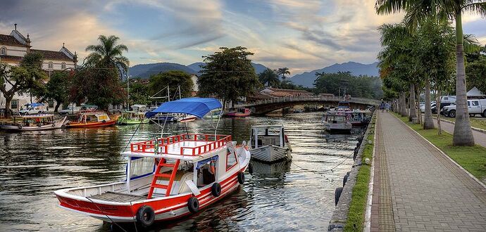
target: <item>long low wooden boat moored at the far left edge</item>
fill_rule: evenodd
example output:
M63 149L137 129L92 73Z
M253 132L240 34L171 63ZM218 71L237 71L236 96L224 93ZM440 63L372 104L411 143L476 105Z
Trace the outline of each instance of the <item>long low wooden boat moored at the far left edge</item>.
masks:
M18 115L13 117L12 123L0 124L0 129L6 131L45 131L59 129L66 124L66 116L58 120L54 115Z

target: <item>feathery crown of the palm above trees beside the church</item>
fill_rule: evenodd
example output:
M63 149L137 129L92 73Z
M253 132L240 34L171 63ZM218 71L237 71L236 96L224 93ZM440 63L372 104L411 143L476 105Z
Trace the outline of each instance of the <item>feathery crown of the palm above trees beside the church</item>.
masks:
M118 44L120 38L114 35L98 37L99 44L89 45L86 51L91 51L86 57L87 65L101 65L102 67L117 67L125 71L130 64L128 58L123 56L123 51L128 51L127 46Z

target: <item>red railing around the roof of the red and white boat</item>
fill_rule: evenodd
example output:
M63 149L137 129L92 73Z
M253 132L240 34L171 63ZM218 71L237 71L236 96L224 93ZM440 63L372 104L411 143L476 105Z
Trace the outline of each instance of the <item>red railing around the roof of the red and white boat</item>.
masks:
M131 143L130 150L132 151L132 153L154 153L155 141L156 140L154 139L149 141ZM180 143L182 141L209 142L196 147L181 147L180 153L178 154L187 155L185 154L185 151L189 150L189 155L201 155L225 146L226 143L232 141L232 138L230 135L216 135L215 137L213 134L178 134L166 138L158 138L157 146L161 148L159 153L168 154L169 145Z

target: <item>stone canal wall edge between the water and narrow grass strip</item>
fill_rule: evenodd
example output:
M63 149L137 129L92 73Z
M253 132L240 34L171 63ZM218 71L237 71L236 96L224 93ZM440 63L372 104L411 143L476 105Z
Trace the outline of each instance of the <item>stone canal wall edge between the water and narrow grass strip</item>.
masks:
M373 116L375 116L375 114L376 110L375 112L373 112ZM373 125L373 128L371 128L371 124L368 124L366 132L363 134L363 141L361 142L361 146L359 146L358 153L356 154L356 160L354 160L353 167L351 167L349 177L347 179L346 185L344 185L341 197L337 202L334 212L332 212L332 217L329 221L328 231L344 230L344 225L346 224L349 213L349 204L351 203L353 188L356 184L356 176L358 175L358 171L361 167L361 155L363 154L365 145L368 143L366 138L368 137L368 134L370 134L371 129L374 130L375 128L376 124Z

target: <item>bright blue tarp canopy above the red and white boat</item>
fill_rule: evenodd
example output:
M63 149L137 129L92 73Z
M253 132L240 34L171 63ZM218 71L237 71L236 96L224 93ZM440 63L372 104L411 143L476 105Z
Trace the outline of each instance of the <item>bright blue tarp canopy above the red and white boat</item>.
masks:
M222 107L223 105L216 98L182 98L163 103L155 110L145 113L145 117L151 118L159 112L175 112L201 118L209 111Z

